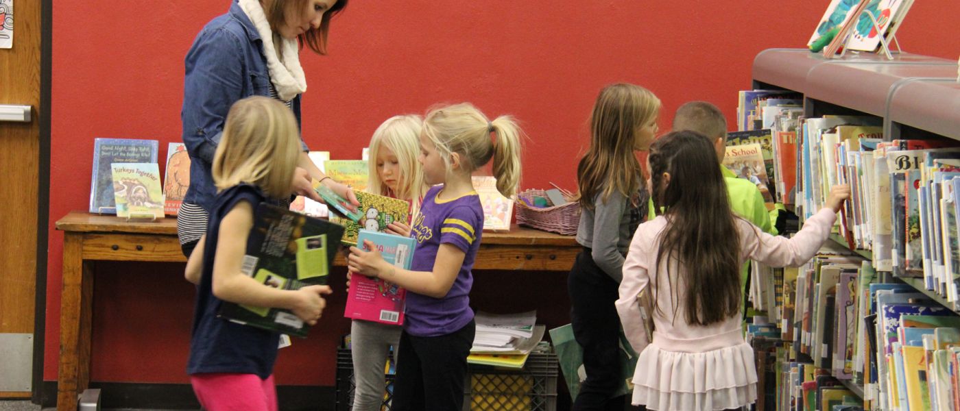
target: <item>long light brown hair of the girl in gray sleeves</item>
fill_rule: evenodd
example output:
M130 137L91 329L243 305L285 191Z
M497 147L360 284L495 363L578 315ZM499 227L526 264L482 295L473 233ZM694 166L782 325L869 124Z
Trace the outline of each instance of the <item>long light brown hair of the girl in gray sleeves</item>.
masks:
M656 121L660 99L635 84L612 84L597 96L590 115L590 148L577 166L580 205L593 209L597 194L630 198L643 181L634 151L639 129Z

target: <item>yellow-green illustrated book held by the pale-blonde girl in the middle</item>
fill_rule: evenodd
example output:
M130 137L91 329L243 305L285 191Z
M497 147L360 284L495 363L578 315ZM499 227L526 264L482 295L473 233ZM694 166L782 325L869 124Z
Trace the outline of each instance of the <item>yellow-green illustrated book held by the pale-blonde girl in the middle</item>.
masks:
M360 218L357 221L345 218L339 213L330 214L330 221L344 226L343 242L345 244L356 245L361 229L382 233L392 222L410 223L409 202L386 195L364 192L354 194L360 202L360 206L357 207Z

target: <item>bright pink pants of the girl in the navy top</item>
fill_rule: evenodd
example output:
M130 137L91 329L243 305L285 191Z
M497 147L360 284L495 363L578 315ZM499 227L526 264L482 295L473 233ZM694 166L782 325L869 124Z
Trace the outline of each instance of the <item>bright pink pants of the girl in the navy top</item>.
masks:
M195 374L190 384L206 411L276 411L274 376Z

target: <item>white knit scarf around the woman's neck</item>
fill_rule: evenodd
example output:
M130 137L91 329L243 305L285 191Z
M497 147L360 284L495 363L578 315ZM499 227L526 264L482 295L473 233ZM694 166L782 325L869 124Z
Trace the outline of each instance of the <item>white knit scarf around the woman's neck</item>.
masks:
M270 30L267 15L259 0L240 0L242 9L256 32L263 41L263 52L267 55L267 69L270 71L270 81L276 88L276 96L287 102L306 91L306 77L303 67L300 67L300 47L296 39L279 37L280 51L283 53L283 62L277 57L274 47L274 32Z

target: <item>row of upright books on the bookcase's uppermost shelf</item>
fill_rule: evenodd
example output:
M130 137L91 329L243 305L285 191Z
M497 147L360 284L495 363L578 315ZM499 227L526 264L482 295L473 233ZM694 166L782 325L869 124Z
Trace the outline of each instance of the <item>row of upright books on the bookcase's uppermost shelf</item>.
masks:
M803 220L823 206L831 186L851 185L852 199L836 228L848 246L871 251L879 271L923 277L928 290L954 303L960 279L957 142L883 141L876 117L804 118L792 97L741 92L740 112L760 113L754 126L769 128L731 133L755 133L761 148L769 146L770 160L763 155L774 199L794 206Z

